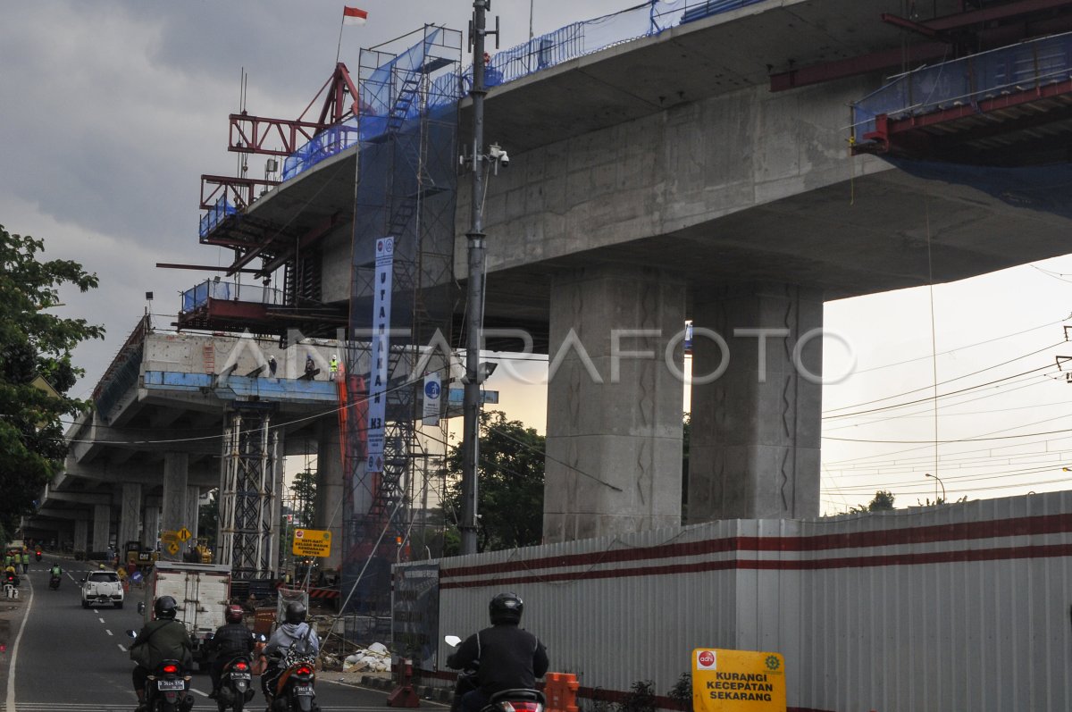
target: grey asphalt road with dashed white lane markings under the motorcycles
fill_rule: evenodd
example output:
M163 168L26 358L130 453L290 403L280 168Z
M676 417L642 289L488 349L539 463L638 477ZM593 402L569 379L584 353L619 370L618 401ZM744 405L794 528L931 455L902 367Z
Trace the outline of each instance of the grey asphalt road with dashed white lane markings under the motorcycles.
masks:
M13 667L6 701L14 700L15 704L6 712L131 712L137 697L131 683L133 663L128 656L130 638L125 631L142 627L139 597L132 591L122 609L86 610L81 607L79 581L88 565L59 560L63 582L54 591L48 588L51 561L45 558L41 563L31 562L29 576L23 577L21 595L32 598L26 602L21 637L9 655ZM18 626L13 622L13 640ZM394 710L384 704L383 691L341 685L331 682L330 674L322 673L316 683L316 700L324 712ZM248 709L260 712L265 701L259 681L255 680L254 686L257 694ZM194 710L215 711L215 702L208 699L208 673L195 673L192 689ZM444 709L426 701L421 707ZM4 700L0 700L3 708Z

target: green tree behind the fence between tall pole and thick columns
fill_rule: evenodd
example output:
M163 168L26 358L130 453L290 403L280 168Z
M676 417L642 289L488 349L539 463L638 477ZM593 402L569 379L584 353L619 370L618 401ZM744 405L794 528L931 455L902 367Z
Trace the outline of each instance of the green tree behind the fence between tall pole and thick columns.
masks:
M544 451L546 437L520 420L507 420L502 411L480 413L480 463L477 468L477 533L479 551L539 544L544 535ZM450 448L447 471L457 475L445 496L448 521L462 511L464 443ZM445 537L450 555L452 537Z

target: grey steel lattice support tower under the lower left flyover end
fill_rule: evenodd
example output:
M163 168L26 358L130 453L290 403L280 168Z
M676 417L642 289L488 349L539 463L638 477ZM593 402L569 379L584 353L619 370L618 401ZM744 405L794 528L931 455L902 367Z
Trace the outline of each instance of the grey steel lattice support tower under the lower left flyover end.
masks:
M224 422L217 562L229 564L237 580L277 569L282 460L271 415L239 404Z

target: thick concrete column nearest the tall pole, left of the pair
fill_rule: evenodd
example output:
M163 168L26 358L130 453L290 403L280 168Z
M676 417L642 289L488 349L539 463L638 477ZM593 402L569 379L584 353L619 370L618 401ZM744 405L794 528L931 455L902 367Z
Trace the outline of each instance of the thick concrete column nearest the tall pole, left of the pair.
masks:
M546 542L681 521L683 340L666 351L684 326L684 282L665 272L597 266L553 279Z

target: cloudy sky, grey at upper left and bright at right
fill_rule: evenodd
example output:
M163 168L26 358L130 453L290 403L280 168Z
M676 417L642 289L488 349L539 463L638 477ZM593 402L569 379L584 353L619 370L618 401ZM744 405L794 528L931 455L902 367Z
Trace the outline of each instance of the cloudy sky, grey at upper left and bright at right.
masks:
M63 308L108 330L77 352L87 369L77 395L92 390L146 292L155 323L168 324L179 293L204 278L158 262L224 261L197 242L199 176L234 175L227 115L238 109L242 70L251 114L296 118L331 72L343 4L0 0L0 224L44 238L46 257L76 259L101 278L101 288L68 295ZM343 34L341 59L352 66L361 46L423 23L464 29L472 12L467 0L348 4L369 12L368 25ZM506 48L527 39L530 11L540 34L630 4L496 0L493 14ZM830 345L824 370L854 367L823 392L824 510L864 503L876 489L902 506L933 499L925 473L935 472L951 500L1064 489L1072 386L1053 365L1072 356L1062 330L1070 312L1072 257L937 285L933 300L922 287L830 302L827 326L851 357ZM542 429L542 409L521 406L542 402L538 387L512 392L506 410Z

